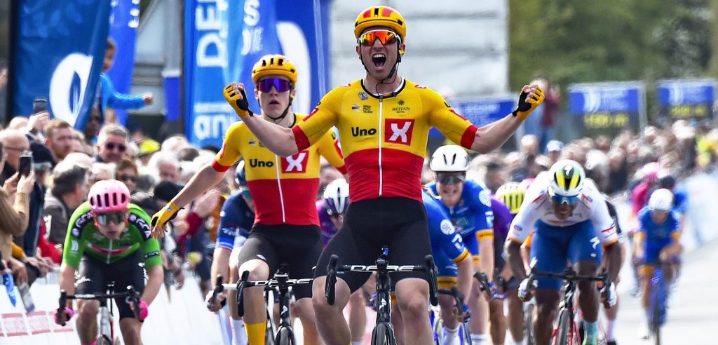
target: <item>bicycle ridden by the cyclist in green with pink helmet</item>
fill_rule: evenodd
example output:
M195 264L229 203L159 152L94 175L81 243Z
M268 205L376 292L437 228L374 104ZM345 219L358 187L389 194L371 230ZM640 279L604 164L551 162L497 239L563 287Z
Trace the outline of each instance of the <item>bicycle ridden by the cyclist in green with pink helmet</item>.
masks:
M111 298L126 298L126 301L134 303L136 308L133 308L132 312L134 317L139 320L139 298L140 294L135 290L134 286L129 285L127 290L121 293L114 292L114 284L110 283L107 285L106 293L86 293L80 295L68 295L67 291L60 290L60 300L57 308L57 320L65 319L65 306L67 306L67 300L98 300L100 302L100 327L99 334L97 336L98 345L112 345L117 344L115 339L115 328L113 326L113 308L112 303L107 303L108 299ZM65 322L61 323L65 326Z

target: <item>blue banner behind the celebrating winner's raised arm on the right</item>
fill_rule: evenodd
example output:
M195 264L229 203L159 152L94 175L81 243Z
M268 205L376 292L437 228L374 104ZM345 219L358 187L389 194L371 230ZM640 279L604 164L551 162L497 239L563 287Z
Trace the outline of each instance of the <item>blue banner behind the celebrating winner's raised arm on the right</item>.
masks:
M516 98L509 96L503 98L476 98L449 103L458 114L479 127L497 121L510 114L513 109L516 109ZM442 134L439 129L432 128L429 131L429 137L442 137Z

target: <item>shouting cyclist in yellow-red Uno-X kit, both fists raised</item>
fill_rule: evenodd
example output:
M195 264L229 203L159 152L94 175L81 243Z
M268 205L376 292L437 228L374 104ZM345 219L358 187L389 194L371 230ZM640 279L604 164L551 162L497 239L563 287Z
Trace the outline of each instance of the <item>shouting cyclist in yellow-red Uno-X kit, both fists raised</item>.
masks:
M389 262L419 265L431 252L419 178L429 129L435 126L463 147L490 152L544 100L540 88L524 86L516 111L477 128L431 89L401 78L398 63L404 55L406 22L399 12L388 6L365 9L357 17L354 35L365 78L327 93L312 114L292 129L252 116L241 83L230 83L224 90L225 99L247 127L279 155L295 155L332 126L339 129L352 203L342 229L322 251L312 296L317 326L327 344L349 344L342 309L350 293L368 279L360 274L338 278L336 302L329 305L325 271L332 254L339 256L340 265L369 265L388 245ZM392 282L406 329L411 330L406 344L432 344L426 275L399 273Z

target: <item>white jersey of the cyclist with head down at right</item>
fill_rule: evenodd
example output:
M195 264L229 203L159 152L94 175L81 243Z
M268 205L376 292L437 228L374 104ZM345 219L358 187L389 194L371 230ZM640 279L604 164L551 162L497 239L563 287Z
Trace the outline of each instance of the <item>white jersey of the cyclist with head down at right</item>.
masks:
M516 217L513 218L508 238L514 242L523 243L531 234L536 221L541 220L548 226L566 227L582 221L592 221L593 227L601 243L605 246L618 241L613 219L608 213L606 201L598 191L592 180L584 182L583 190L579 195L579 202L571 216L559 219L554 213L551 197L549 196L549 178L546 172L541 173L533 180L531 187L526 190L526 196L521 203Z

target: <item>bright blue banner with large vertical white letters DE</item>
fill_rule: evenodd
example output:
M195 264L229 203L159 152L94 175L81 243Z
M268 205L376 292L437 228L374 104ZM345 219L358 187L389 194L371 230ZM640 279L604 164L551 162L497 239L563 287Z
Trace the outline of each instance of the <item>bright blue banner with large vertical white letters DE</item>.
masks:
M221 146L236 114L222 88L231 81L248 86L251 68L266 54L281 53L274 0L185 3L185 133L192 144ZM256 102L250 107L258 112Z

